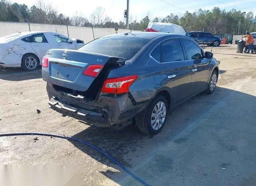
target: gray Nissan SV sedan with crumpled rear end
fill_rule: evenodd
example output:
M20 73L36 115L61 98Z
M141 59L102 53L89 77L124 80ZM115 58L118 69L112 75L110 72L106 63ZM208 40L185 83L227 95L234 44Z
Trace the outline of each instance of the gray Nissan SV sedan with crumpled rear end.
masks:
M218 62L187 36L128 32L104 36L76 50L50 49L42 61L49 107L98 127L131 123L159 133L168 111L211 94Z

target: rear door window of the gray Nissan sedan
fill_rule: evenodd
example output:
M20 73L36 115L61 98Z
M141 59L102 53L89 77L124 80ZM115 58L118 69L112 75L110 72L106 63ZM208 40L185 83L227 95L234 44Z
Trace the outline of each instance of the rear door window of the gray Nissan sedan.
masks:
M162 63L184 60L180 40L170 39L162 42Z

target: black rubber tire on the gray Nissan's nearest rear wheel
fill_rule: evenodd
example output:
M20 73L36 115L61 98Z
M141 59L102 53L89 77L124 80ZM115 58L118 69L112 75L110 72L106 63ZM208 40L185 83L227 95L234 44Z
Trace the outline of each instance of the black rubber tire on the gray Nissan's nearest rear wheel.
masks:
M161 103L161 102L164 103L165 110L166 110L164 122L162 122L162 125L160 126L159 129L153 129L151 125L151 119L155 118L155 117L151 117L153 113L153 109L157 107L156 105L158 103ZM145 111L138 114L138 116L136 117L136 126L138 126L139 130L142 131L142 133L145 133L147 135L156 135L164 127L164 124L167 119L167 113L168 113L168 103L164 96L158 95L151 101L151 103L148 105L148 108ZM160 121L160 119L157 121Z

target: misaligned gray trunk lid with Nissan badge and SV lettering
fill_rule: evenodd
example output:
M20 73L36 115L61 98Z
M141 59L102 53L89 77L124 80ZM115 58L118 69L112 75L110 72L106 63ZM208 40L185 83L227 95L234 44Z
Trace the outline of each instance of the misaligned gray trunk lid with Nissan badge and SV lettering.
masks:
M43 79L62 91L84 96L97 94L110 69L121 64L118 63L120 58L117 57L77 50L50 49L46 57L48 57L48 68L42 68ZM97 77L91 77L83 74L90 65L104 66Z

